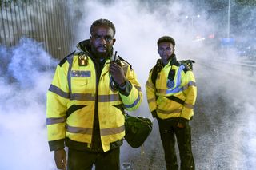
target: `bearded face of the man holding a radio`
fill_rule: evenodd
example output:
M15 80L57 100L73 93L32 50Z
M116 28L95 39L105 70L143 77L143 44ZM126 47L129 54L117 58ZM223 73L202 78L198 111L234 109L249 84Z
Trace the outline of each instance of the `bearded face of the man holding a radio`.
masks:
M114 45L114 31L109 26L96 26L90 37L90 43L94 53L106 56Z

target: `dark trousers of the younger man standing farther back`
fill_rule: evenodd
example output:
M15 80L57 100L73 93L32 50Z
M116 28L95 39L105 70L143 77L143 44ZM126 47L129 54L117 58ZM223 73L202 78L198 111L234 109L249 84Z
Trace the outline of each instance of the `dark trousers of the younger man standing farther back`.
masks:
M177 121L158 119L162 146L165 152L166 169L178 170L175 152L175 136L178 143L182 170L194 170L194 158L191 149L191 128L186 124L184 128L177 127Z

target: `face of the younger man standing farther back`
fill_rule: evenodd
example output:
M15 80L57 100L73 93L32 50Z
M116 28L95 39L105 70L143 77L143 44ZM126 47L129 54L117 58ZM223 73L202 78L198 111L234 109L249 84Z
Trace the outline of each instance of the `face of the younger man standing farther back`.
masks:
M162 58L162 62L166 64L170 59L171 54L174 53L174 45L170 42L161 42L158 45L158 53Z

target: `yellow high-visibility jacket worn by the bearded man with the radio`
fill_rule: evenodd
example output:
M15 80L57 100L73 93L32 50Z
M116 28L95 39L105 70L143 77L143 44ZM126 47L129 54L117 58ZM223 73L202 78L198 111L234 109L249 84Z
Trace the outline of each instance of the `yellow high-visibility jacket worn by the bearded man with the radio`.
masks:
M79 65L79 57L83 57L82 62L86 65ZM98 82L94 62L85 51L73 53L59 63L47 93L50 150L64 148L66 138L90 148L97 101L103 151L110 150L111 143L122 140L125 136L123 109L138 109L142 92L134 70L126 61L121 63L131 86L128 95L110 88L110 59L106 60ZM122 105L122 109L118 105Z

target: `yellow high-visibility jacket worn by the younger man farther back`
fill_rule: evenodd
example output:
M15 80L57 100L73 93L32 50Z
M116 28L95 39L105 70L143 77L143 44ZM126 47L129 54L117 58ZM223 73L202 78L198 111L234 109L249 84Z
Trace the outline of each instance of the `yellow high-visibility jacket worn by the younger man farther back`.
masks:
M168 79L170 69L174 70L173 82ZM166 120L180 117L189 121L194 115L194 104L197 97L194 73L172 57L167 65L158 73L155 85L151 76L146 81L146 96L153 117Z

